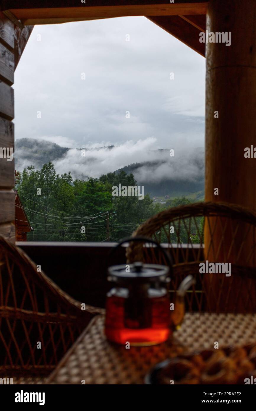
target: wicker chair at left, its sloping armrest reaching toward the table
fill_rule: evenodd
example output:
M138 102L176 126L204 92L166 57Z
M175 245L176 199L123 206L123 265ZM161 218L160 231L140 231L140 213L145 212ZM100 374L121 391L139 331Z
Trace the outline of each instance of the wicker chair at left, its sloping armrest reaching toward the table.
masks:
M40 383L94 314L62 291L18 247L0 236L0 377ZM18 377L20 377L18 379ZM30 377L33 377L31 379Z

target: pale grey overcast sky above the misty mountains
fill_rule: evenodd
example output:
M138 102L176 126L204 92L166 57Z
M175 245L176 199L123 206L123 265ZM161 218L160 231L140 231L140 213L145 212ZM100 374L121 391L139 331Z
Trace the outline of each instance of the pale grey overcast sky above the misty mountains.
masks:
M35 26L14 89L16 139L204 146L205 59L145 17Z

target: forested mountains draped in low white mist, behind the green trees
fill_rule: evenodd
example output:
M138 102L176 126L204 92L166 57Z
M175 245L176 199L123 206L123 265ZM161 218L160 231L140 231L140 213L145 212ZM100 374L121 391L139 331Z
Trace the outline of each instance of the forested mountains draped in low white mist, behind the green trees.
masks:
M44 140L19 139L15 145L15 168L34 165L41 169L51 161L57 173L71 171L73 178L99 178L102 174L133 173L138 185L150 196L183 196L204 189L204 149L156 150L155 139L126 141L118 146L67 148ZM110 153L111 152L111 153Z

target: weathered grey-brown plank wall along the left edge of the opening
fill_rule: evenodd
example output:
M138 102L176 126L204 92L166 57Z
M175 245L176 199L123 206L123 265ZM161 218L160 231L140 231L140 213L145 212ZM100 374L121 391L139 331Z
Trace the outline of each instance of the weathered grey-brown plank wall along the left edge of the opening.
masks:
M14 242L13 82L14 23L0 13L0 235Z

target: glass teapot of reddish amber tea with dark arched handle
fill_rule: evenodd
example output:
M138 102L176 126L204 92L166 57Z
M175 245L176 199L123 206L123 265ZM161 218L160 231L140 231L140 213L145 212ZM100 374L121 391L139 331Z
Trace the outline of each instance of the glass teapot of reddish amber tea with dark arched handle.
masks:
M170 303L170 257L157 242L141 237L124 240L117 247L135 240L161 248L170 267L136 262L108 268L108 281L114 286L107 293L105 335L113 342L129 342L131 346L160 344L182 323L185 292L195 281L188 275L179 286L175 302Z

